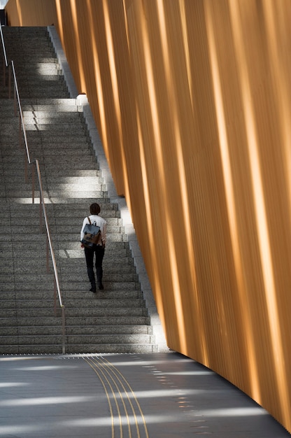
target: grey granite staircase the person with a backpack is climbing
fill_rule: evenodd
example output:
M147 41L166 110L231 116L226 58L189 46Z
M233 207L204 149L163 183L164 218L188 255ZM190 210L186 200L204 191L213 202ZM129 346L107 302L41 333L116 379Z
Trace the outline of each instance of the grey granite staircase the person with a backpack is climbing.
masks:
M45 206L66 314L66 353L157 351L139 277L92 152L83 113L70 99L46 28L3 27L13 59L31 160L40 163ZM40 230L39 192L31 202L31 167L19 118L0 79L0 353L62 353L61 311L54 311L52 263ZM38 186L36 185L36 189ZM108 243L104 291L89 292L80 227L101 205ZM42 222L43 223L43 222Z

